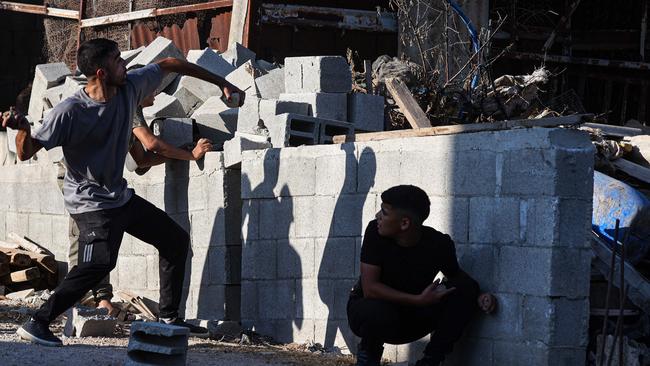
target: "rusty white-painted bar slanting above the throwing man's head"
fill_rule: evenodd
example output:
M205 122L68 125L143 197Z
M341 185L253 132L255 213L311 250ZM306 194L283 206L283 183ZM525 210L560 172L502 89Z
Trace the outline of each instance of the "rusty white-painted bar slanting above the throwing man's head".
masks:
M95 27L98 25L107 25L115 23L124 23L130 22L138 19L146 18L155 18L162 15L171 15L179 13L189 13L192 11L201 11L201 10L211 10L211 9L220 9L227 8L232 6L232 0L219 0L219 1L210 1L207 3L194 4L194 5L182 5L175 6L171 8L151 8L145 10L132 11L129 13L113 14L103 17L84 19L81 22L82 28Z

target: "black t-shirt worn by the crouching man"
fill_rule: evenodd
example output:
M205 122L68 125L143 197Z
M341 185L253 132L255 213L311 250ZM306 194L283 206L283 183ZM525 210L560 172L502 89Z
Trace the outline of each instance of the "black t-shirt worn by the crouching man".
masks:
M438 271L450 277L459 270L456 247L447 234L423 226L420 242L403 247L394 239L379 235L377 221L368 224L361 247L361 262L381 267L380 281L396 290L420 294ZM353 294L363 296L361 279Z

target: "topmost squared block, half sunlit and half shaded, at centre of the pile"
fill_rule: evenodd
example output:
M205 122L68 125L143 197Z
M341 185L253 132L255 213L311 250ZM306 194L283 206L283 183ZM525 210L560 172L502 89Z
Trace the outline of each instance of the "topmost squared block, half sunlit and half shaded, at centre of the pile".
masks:
M350 65L341 56L284 59L288 93L347 93L352 89Z

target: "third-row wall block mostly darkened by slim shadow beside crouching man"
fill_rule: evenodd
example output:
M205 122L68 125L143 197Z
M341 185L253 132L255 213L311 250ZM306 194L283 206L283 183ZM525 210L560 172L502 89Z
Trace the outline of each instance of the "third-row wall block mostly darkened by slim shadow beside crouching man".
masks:
M354 278L355 253L355 238L316 239L314 260L318 280Z

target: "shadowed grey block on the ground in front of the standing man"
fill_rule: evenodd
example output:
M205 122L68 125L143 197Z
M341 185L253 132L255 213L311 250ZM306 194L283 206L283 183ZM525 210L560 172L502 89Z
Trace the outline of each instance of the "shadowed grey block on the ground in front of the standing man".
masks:
M185 327L134 322L125 365L184 366L189 333Z

